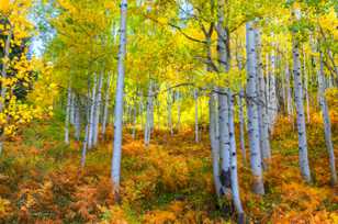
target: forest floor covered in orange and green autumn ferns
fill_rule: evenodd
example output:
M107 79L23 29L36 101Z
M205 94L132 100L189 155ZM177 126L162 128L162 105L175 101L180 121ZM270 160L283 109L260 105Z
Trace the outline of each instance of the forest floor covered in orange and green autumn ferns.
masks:
M331 119L337 156L337 114ZM122 205L116 206L110 184L111 138L88 153L81 170L80 144L63 143L61 122L31 124L5 143L0 159L0 223L226 223L215 206L207 133L195 144L192 131L172 137L156 132L148 148L138 134L139 141L133 141L125 131ZM320 114L312 114L307 136L311 186L301 179L297 135L285 117L271 139L264 197L251 193L249 163L244 166L239 155L240 194L250 222L338 223L338 188L329 184Z

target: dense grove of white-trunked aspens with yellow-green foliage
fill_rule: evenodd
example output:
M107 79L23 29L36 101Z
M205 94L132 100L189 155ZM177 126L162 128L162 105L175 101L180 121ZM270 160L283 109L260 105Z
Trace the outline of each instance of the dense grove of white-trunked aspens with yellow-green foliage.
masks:
M264 173L279 163L271 138L286 116L298 172L313 184L307 125L320 112L335 187L337 108L327 92L337 97L337 9L331 0L0 0L0 154L27 123L58 114L65 144L81 147L80 169L113 139L119 204L124 134L149 148L156 131L193 130L194 144L210 139L211 197L244 223L238 164L252 192L269 194Z

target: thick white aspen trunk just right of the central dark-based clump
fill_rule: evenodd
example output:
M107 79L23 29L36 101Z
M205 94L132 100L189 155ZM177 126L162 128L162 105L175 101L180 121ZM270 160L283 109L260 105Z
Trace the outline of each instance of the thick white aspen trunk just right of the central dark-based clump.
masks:
M254 175L254 192L257 194L264 194L261 154L259 147L259 124L257 111L257 60L256 60L256 42L254 22L247 22L246 36L247 36L247 98L248 98L248 132L249 132L249 146L250 146L250 164Z

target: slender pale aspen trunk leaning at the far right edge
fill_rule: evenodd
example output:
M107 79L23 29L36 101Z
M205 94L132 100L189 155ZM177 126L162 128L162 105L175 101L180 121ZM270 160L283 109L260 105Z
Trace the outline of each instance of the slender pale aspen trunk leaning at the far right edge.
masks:
M329 165L331 171L331 183L337 184L337 172L336 172L336 158L331 137L331 122L328 113L328 105L325 98L325 86L324 86L324 63L323 53L320 52L320 69L318 72L318 86L319 86L319 102L322 108L323 121L324 121L324 132L325 132L325 143L329 157Z

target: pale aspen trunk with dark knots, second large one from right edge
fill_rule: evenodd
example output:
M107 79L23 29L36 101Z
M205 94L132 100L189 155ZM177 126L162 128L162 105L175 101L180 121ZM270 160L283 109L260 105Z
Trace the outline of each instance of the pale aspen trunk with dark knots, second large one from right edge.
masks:
M308 157L307 157L305 114L303 105L303 85L301 76L300 49L298 49L298 42L295 36L293 36L292 41L292 56L293 56L293 75L294 75L294 99L295 99L296 114L297 114L301 173L306 182L311 182L311 172L309 172Z

